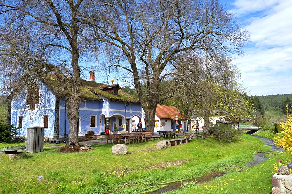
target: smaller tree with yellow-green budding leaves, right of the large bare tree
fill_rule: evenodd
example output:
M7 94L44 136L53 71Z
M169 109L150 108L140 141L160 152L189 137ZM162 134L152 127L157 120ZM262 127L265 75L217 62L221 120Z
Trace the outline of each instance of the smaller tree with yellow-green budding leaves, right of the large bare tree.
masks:
M239 71L228 56L188 53L177 61L177 75L172 79L172 87L177 89L172 102L189 120L191 116L204 119L204 136L209 136L209 118L215 114L237 121L251 118L253 108L243 97Z

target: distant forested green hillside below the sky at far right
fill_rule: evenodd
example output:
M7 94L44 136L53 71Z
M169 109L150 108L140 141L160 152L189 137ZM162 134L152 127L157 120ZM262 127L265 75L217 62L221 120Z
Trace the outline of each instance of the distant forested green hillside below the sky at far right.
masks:
M292 99L292 94L273 94L257 97L260 99L260 102L263 104L266 110L269 110L270 107L285 109L285 101L287 102L287 99Z

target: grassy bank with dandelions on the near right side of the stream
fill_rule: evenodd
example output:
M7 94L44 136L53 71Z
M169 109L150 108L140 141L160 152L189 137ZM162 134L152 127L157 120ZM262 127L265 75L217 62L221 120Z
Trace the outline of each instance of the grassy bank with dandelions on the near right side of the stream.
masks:
M270 194L272 193L273 164L285 160L287 154L270 155L270 158L242 172L231 172L198 186L168 192L167 194ZM286 161L287 162L287 161Z

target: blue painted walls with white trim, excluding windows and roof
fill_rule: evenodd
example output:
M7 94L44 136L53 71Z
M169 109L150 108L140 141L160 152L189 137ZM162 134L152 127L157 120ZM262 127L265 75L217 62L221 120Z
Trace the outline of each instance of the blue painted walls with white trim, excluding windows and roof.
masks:
M26 102L26 91L20 94L12 101L11 110L11 123L17 126L18 116L23 116L23 127L19 129L19 135L26 135L26 128L30 126L43 126L43 115L49 116L49 127L44 132L49 137L53 137L53 128L55 122L55 103L56 96L53 92L43 83L39 82L40 87L40 102L36 104L35 110L29 110L29 105ZM113 130L113 124L119 130L123 130L119 126L119 119L122 117L123 125L125 124L125 102L116 102L108 100L105 97L100 96L103 101L87 100L79 103L79 136L86 134L86 131L93 130L95 134L100 134L101 131L105 131L105 117L111 119L111 130ZM65 132L65 99L60 99L60 137ZM66 112L68 113L68 112ZM90 115L96 116L96 127L90 127ZM130 119L137 115L141 118L141 106L140 104L130 104L127 106L127 118ZM69 120L66 115L66 133L69 134Z

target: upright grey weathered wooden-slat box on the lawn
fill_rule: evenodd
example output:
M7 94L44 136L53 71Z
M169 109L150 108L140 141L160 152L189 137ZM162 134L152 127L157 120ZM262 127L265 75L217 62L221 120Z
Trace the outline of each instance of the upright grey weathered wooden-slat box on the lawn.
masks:
M44 127L27 127L26 152L37 153L44 151Z

